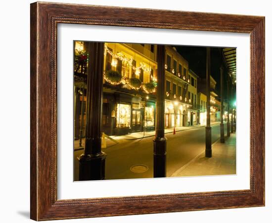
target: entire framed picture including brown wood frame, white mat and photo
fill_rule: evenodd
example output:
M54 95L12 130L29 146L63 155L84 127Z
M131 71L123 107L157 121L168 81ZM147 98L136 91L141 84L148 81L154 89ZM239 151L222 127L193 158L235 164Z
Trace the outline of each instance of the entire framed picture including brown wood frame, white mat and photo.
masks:
M265 18L31 4L31 219L265 205Z

